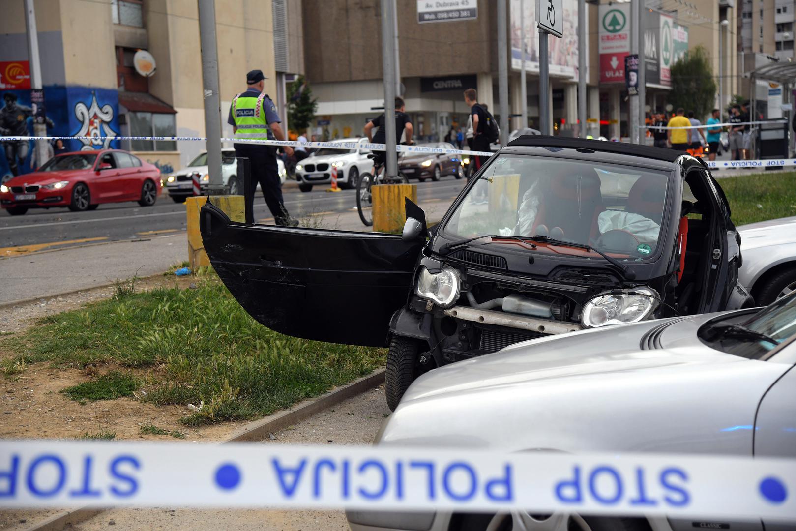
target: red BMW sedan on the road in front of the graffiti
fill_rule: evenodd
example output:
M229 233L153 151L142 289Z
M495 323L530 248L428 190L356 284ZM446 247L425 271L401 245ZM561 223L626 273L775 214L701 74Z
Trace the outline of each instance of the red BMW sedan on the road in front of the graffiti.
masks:
M12 216L28 209L65 206L72 212L100 203L138 201L152 206L162 183L160 170L123 150L75 151L56 155L39 170L0 185L0 207Z

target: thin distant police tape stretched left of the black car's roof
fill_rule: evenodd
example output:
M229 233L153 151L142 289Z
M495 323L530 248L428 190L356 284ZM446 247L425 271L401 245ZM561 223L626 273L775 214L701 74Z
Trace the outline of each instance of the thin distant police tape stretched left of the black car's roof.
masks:
M86 140L92 142L92 146L97 146L92 149L102 149L100 146L105 141L113 140L146 140L155 142L205 142L207 139L203 136L0 136L0 143L2 142L24 142L25 140ZM263 139L220 139L221 142L232 142L237 144L259 144L263 146L290 146L290 147L310 147L318 149L331 149L331 150L369 150L369 151L386 151L387 146L383 143L365 143L365 142L298 142L296 140L263 140ZM473 150L456 150L447 149L443 147L431 146L404 146L398 144L396 151L400 153L427 153L427 154L460 154L470 156L491 157L494 153L491 151L473 151Z

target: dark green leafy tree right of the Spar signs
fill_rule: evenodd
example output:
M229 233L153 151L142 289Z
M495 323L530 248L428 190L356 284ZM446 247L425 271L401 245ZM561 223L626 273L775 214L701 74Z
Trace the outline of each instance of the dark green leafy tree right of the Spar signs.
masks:
M672 90L667 96L675 109L694 111L696 118L704 120L716 101L716 80L708 53L697 46L672 65Z

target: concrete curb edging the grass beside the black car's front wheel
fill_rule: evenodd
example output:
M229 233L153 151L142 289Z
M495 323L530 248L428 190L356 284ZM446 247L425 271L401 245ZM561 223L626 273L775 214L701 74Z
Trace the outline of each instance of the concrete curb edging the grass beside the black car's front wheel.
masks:
M232 435L221 443L254 442L265 439L270 433L282 431L284 428L301 422L326 408L340 404L343 400L381 385L384 382L385 372L385 369L376 369L368 376L334 388L325 395L304 400L292 408L274 413L260 420L254 420L233 431ZM71 528L80 524L89 518L96 517L97 514L109 509L112 509L112 507L102 509L80 507L80 509L65 510L63 513L55 514L45 521L26 527L24 531L61 531L67 527Z

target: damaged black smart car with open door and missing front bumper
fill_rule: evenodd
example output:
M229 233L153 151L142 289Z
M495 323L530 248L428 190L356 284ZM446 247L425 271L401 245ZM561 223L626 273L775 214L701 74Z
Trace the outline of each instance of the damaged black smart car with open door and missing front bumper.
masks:
M233 223L208 202L201 233L263 325L388 346L390 408L420 373L516 342L753 304L724 193L673 150L521 137L430 232L407 216L396 236Z

